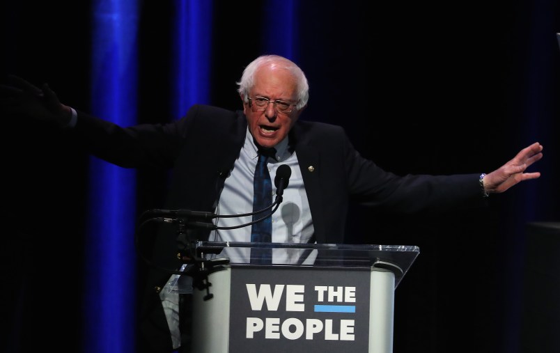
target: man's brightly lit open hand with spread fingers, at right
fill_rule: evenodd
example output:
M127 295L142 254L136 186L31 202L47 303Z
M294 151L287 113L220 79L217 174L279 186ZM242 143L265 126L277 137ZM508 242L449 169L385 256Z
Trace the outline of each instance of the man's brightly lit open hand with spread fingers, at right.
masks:
M540 177L539 172L524 173L524 171L531 164L543 158L542 151L543 146L538 142L520 150L511 161L484 176L485 191L490 193L504 192L518 182Z

